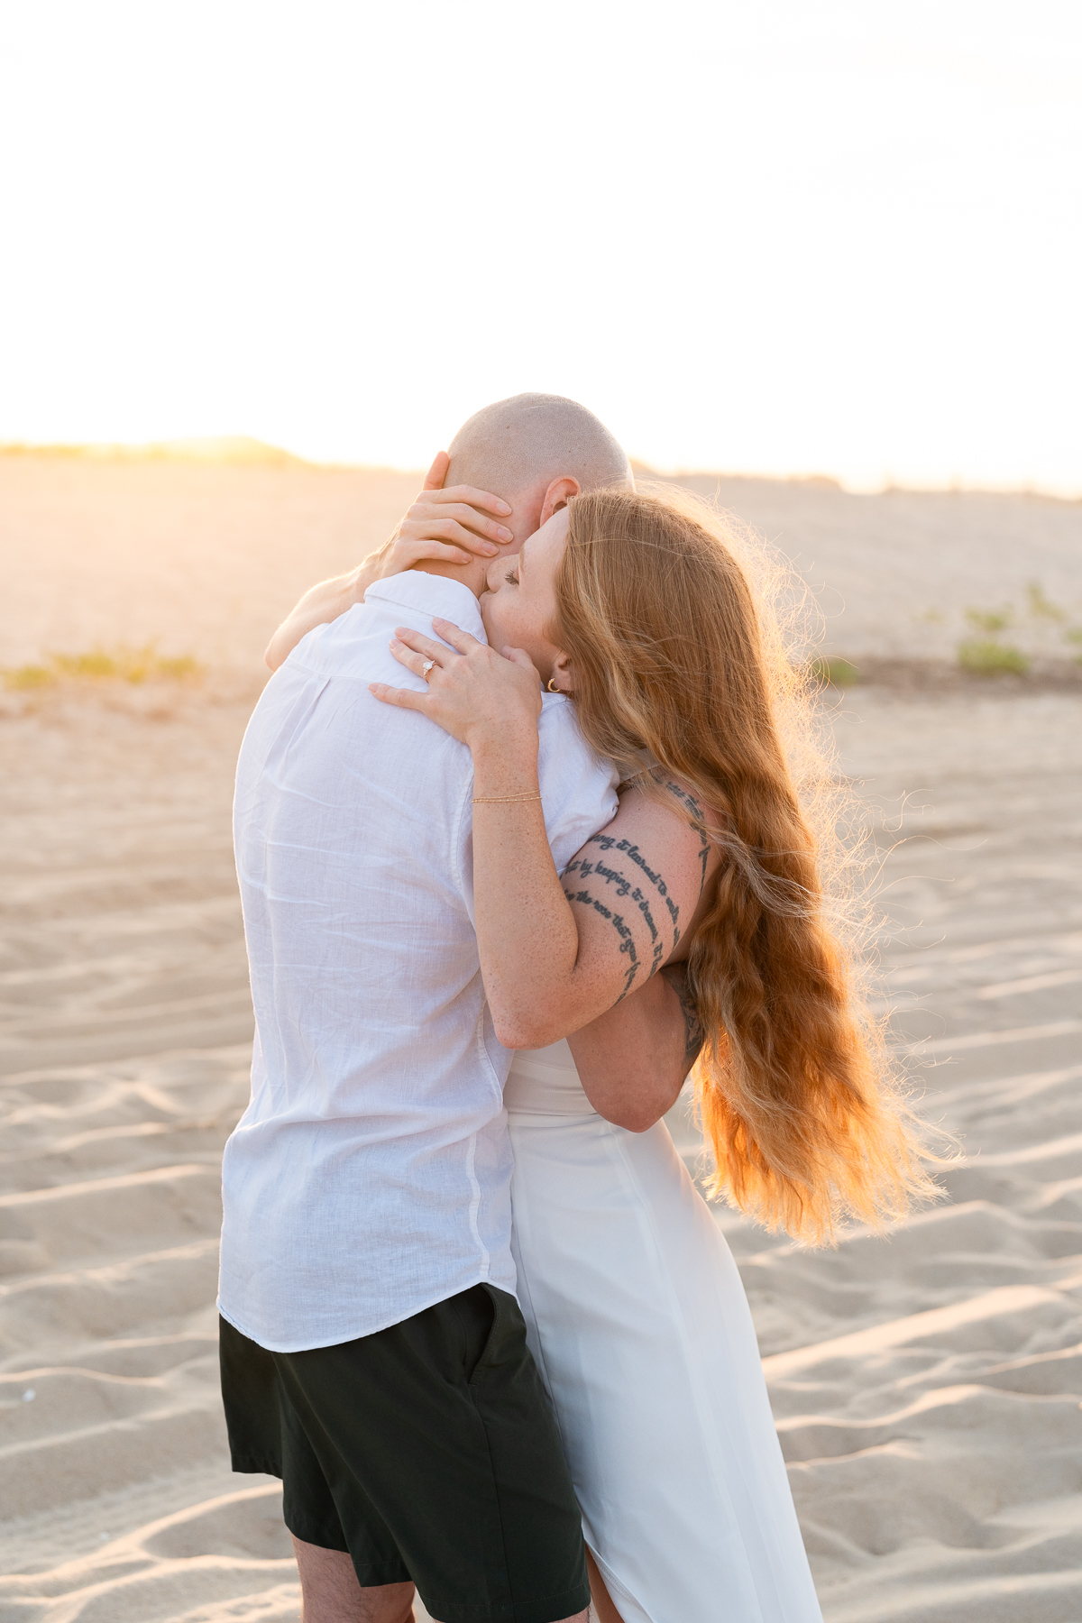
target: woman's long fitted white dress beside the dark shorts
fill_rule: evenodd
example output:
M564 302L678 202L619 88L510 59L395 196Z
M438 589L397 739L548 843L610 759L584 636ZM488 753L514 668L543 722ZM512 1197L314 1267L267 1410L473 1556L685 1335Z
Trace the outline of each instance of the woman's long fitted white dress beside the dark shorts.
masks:
M566 1042L506 1087L514 1256L586 1542L625 1623L821 1623L736 1264L663 1121Z

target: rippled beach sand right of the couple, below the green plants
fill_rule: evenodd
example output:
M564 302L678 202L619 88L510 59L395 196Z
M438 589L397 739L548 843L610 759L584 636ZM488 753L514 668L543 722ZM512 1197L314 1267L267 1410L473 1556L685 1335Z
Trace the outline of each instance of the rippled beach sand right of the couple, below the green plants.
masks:
M1082 1617L1082 703L847 698L944 1203L834 1255L723 1217L827 1623Z

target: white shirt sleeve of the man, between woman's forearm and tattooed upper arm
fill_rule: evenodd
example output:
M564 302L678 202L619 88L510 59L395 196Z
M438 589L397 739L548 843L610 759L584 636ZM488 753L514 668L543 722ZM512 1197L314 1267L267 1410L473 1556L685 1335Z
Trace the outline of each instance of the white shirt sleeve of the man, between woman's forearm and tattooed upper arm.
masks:
M563 873L590 834L615 818L620 774L612 761L589 747L569 700L547 695L537 730L545 833L556 873Z

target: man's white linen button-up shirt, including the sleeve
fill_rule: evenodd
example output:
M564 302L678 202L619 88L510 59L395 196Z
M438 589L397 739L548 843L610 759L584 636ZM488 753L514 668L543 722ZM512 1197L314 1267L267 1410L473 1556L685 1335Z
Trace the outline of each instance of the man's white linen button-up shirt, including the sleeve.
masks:
M318 626L268 682L234 836L256 1037L225 1146L219 1308L273 1352L368 1336L488 1281L514 1292L511 1055L477 958L466 745L381 704L423 690L388 649L432 617L485 638L461 581L406 571ZM556 868L616 812L616 771L545 695Z

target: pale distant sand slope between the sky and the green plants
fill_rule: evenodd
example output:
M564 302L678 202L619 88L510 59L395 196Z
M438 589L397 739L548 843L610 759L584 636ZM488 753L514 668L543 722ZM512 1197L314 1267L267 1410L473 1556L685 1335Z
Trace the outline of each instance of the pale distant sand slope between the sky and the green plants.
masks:
M1032 654L1079 651L1064 641L1082 626L1079 503L850 495L715 474L681 482L796 565L827 652L952 659L973 635L970 607L1007 607L1009 641ZM284 605L380 545L419 485L419 474L381 469L0 456L0 664L156 636L169 652L258 674Z

